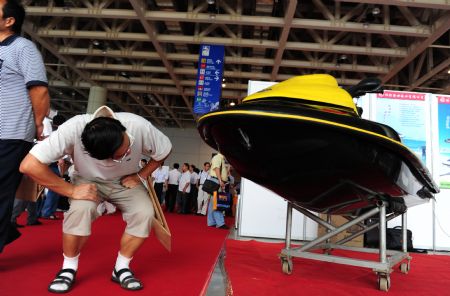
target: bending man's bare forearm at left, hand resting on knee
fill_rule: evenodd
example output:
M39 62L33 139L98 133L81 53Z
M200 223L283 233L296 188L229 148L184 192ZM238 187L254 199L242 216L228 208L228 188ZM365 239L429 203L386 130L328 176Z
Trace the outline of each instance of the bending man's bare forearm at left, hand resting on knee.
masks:
M73 199L97 201L97 187L94 184L73 185L58 177L48 165L28 154L20 164L20 172L30 176L38 184Z

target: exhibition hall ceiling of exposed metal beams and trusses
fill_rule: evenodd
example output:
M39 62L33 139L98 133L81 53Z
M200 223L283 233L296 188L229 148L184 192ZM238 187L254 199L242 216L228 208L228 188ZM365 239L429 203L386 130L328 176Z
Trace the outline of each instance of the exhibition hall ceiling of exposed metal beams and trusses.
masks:
M248 80L329 73L340 85L450 94L449 0L28 0L53 108L86 112L91 86L115 111L195 125L200 44L225 45L221 104Z

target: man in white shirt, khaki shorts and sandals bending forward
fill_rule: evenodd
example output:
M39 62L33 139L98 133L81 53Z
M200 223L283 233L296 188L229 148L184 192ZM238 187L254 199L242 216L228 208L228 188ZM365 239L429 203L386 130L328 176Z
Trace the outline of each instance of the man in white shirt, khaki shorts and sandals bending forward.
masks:
M106 106L94 114L69 119L31 149L20 171L71 200L63 221L63 266L50 283L50 292L65 293L72 288L81 249L91 234L92 221L99 217L97 207L102 200L117 206L127 224L111 279L127 290L143 288L129 269L154 217L142 180L171 149L170 140L149 121L132 113L114 113ZM74 161L72 183L57 177L48 167L65 154ZM142 154L151 161L138 170Z

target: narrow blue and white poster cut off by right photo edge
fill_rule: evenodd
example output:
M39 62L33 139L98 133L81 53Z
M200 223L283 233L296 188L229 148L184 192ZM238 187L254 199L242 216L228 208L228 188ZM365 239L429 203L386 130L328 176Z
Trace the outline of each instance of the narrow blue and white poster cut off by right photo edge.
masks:
M438 99L439 176L440 187L450 188L450 96Z

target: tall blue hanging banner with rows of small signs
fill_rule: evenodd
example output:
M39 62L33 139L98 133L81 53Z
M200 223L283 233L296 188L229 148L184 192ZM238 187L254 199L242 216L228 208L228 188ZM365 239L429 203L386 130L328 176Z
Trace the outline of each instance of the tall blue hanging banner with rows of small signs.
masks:
M195 84L195 114L205 114L219 109L224 54L223 45L200 45Z

